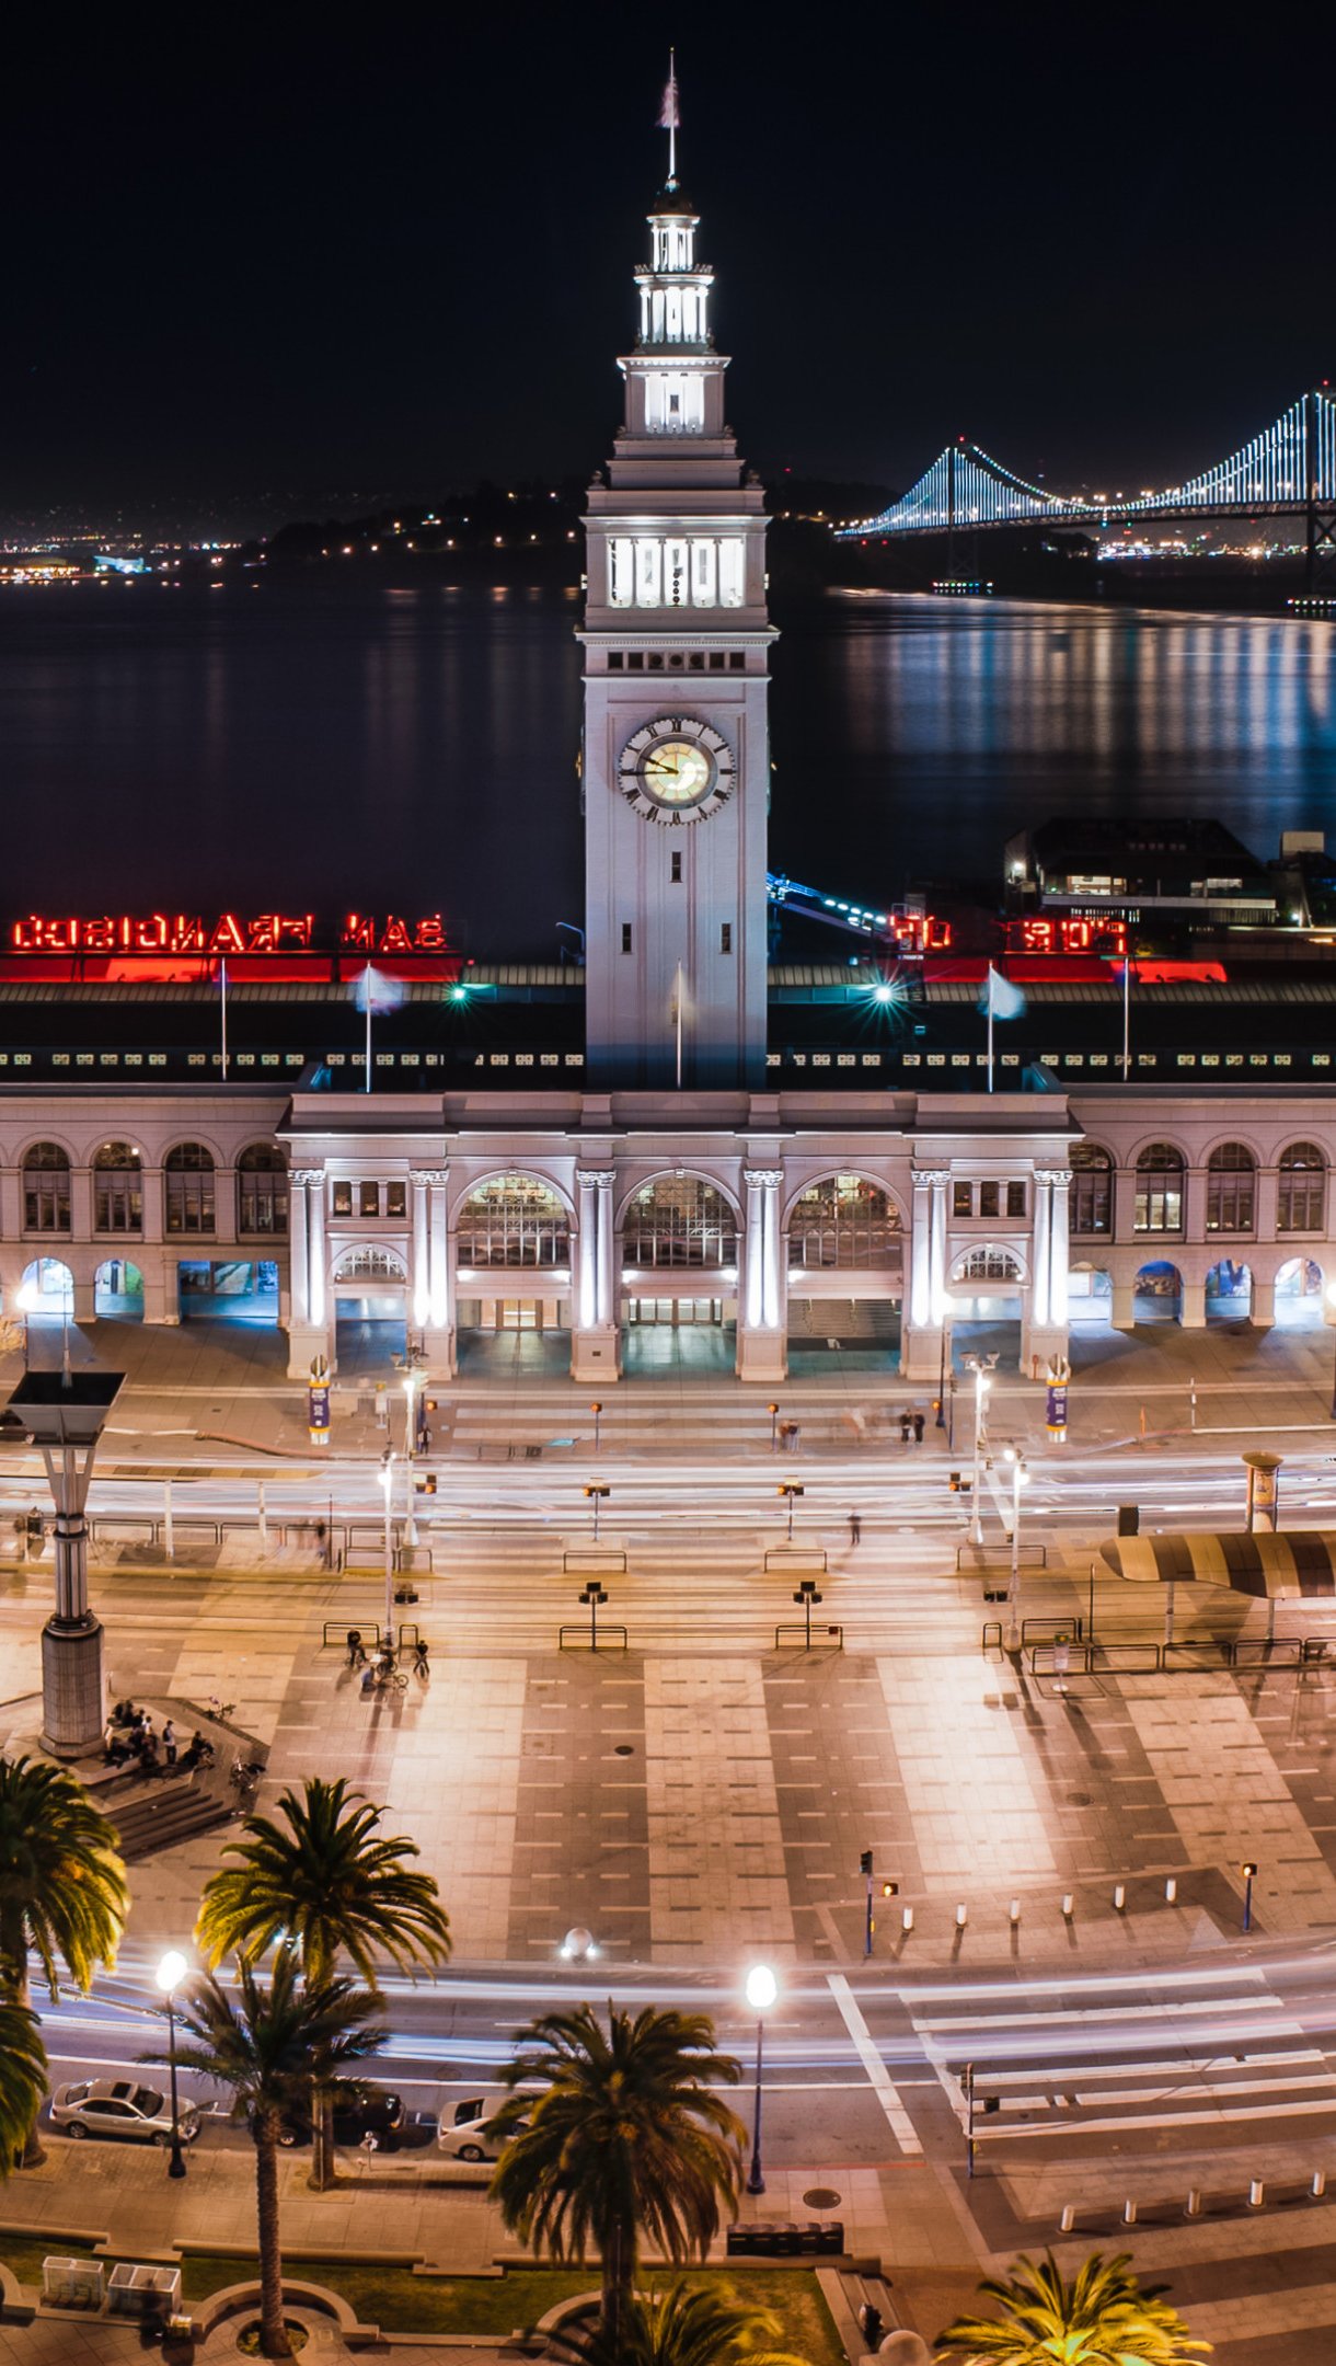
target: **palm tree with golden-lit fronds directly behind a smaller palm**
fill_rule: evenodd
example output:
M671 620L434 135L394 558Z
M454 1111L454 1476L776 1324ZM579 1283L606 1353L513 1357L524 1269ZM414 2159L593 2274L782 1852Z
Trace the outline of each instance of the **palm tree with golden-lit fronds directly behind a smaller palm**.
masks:
M430 1874L411 1872L414 1841L378 1838L381 1808L341 1782L284 1791L279 1815L253 1815L222 1872L203 1890L196 1940L210 1964L239 1954L255 1964L274 1940L300 1947L312 1987L348 1954L376 1992L376 1954L400 1971L445 1964L449 1916ZM314 2113L312 2186L333 2184L333 2110Z

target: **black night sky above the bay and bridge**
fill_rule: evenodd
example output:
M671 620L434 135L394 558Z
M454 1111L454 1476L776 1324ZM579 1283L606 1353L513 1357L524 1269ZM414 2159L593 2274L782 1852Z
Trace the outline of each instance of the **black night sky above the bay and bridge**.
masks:
M586 476L681 180L766 471L1166 483L1336 376L1324 14L24 12L0 525Z

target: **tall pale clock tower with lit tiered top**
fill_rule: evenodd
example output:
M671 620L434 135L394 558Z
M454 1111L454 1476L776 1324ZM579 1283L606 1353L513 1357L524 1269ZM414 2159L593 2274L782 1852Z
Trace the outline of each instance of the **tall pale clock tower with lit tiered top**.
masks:
M724 421L714 274L669 168L636 270L624 421L589 490L586 1074L759 1086L766 1067L764 492Z

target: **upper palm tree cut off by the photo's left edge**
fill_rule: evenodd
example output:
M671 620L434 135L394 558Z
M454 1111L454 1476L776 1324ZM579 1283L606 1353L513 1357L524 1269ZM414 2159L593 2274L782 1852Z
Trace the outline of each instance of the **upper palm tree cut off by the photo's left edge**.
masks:
M116 1961L128 1912L116 1829L83 1784L40 1758L0 1760L0 1997L28 2004L28 1952L52 1997L61 1964L87 1995L97 1966ZM33 2108L24 2163L40 2158Z

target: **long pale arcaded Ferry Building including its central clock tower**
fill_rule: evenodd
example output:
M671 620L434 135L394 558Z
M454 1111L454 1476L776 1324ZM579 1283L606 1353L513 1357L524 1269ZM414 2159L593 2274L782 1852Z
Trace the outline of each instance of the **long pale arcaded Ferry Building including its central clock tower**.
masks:
M466 1384L525 1332L591 1386L672 1346L757 1389L832 1346L929 1389L972 1323L1038 1377L1074 1325L1322 1320L1331 991L1166 989L1123 1069L1116 987L1031 996L993 1062L972 991L908 1029L877 963L768 965L766 516L712 300L669 180L589 490L584 970L409 977L367 1077L329 982L239 961L222 1051L213 951L135 982L99 920L52 982L14 930L5 1315L232 1313L303 1379L421 1346Z

